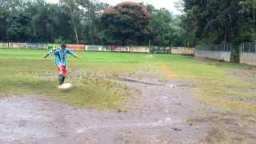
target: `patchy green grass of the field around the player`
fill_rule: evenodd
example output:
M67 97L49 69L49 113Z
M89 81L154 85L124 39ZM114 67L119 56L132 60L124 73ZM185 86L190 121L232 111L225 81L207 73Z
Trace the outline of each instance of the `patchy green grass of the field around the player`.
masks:
M82 61L69 58L67 81L74 83L74 89L64 93L57 89L53 58L43 59L44 54L41 50L0 50L0 95L37 94L76 106L118 109L134 90L109 78L154 71L160 80L175 77L194 84L194 98L206 104L246 114L256 112L255 104L246 101L256 97L255 82L230 74L230 70L248 66L181 55L78 52Z

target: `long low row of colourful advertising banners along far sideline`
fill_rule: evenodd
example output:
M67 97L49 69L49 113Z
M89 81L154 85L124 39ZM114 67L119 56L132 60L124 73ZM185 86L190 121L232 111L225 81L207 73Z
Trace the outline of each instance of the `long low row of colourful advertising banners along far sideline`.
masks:
M0 42L0 48L13 48L13 49L36 49L36 50L52 50L60 47L60 44L54 43L18 43L18 42ZM74 45L67 44L70 50L74 51L105 51L105 52L131 52L131 53L154 53L154 54L194 54L194 49L186 47L159 47L159 46L101 46L101 45Z

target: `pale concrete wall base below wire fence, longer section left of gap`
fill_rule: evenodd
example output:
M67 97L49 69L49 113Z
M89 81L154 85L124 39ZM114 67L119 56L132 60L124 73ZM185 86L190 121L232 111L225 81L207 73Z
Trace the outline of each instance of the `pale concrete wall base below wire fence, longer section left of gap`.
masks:
M225 62L230 62L231 52L195 50L194 56L198 58L210 58L210 59L223 60Z

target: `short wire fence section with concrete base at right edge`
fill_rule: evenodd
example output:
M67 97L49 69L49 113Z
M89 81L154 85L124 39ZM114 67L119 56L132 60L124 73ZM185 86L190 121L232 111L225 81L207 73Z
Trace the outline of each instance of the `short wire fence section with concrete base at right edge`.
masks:
M256 66L256 43L242 43L240 45L240 62Z

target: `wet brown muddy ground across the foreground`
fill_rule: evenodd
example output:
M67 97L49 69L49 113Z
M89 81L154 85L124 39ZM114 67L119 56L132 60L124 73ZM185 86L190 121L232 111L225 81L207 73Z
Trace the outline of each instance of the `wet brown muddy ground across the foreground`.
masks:
M140 91L124 110L85 109L39 95L2 98L0 143L218 143L228 131L238 142L256 139L254 115L205 106L192 97L190 82L149 76L117 81Z

